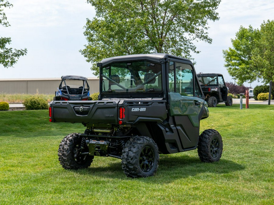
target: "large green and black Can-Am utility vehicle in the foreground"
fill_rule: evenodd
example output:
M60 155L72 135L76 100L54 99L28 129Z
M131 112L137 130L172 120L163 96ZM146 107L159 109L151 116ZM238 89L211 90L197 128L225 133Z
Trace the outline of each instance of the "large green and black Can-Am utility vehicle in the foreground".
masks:
M159 153L195 150L204 162L220 160L221 135L200 120L209 116L192 62L173 55L138 54L98 63L97 101L52 101L51 122L82 123L60 143L65 169L89 167L94 156L121 159L130 177L156 173Z

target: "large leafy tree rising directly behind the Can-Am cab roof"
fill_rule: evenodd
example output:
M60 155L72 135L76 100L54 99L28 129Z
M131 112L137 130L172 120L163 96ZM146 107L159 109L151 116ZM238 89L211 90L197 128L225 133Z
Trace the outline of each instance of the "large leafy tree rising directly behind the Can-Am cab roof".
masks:
M80 52L94 65L100 60L138 53L165 52L191 58L193 41L212 42L208 21L219 19L220 0L88 0L96 16L87 19L88 41Z

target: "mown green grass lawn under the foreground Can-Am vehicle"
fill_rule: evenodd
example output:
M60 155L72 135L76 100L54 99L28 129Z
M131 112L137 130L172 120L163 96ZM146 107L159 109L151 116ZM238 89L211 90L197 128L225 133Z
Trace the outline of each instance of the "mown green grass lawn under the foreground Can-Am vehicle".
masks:
M155 176L125 176L121 160L95 157L65 170L57 150L82 124L50 123L47 110L0 112L0 204L273 204L274 106L218 105L201 121L223 137L218 163L197 150L160 155Z

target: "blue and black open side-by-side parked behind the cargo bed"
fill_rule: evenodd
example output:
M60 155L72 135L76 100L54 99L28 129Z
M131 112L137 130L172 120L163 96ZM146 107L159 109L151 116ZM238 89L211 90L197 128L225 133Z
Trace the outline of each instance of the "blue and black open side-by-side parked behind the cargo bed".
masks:
M90 86L83 76L62 76L53 100L88 100Z

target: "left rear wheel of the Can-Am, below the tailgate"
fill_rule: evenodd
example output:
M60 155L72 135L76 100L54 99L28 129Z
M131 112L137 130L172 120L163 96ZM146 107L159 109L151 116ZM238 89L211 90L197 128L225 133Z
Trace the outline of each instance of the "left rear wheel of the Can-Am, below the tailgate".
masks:
M87 146L84 150L81 148L81 141L82 138L78 133L65 136L61 141L58 149L58 158L64 169L83 169L89 167L92 163L94 156L80 154L88 151Z

